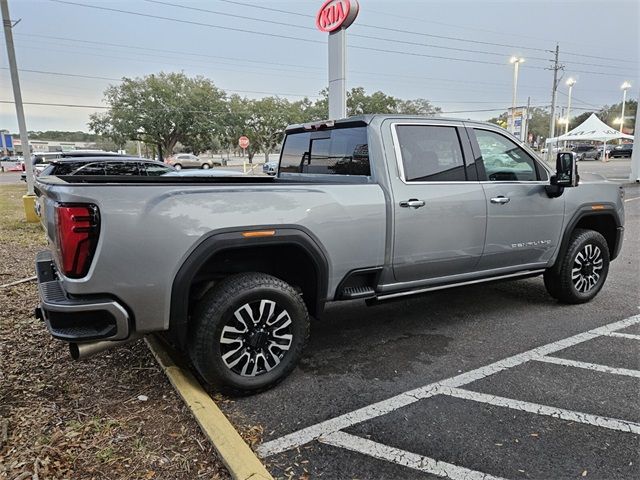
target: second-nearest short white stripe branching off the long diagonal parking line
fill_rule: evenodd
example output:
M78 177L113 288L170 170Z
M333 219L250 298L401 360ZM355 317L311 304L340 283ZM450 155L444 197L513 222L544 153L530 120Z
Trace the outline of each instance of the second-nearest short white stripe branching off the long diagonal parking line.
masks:
M441 392L444 395L461 398L463 400L473 400L474 402L488 403L489 405L495 405L496 407L506 407L513 410L521 410L523 412L535 413L537 415L546 415L548 417L561 418L562 420L569 420L571 422L585 423L595 427L608 428L610 430L618 430L620 432L640 435L640 423L627 420L602 417L600 415L592 415L590 413L575 412L564 408L550 407L549 405L525 402L522 400L515 400L513 398L498 397L496 395L473 392L462 388L443 387Z

